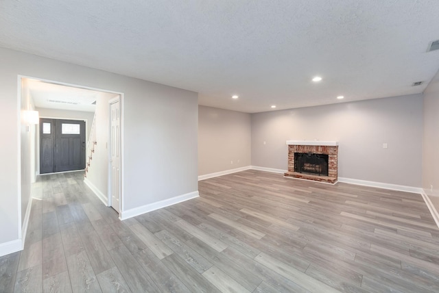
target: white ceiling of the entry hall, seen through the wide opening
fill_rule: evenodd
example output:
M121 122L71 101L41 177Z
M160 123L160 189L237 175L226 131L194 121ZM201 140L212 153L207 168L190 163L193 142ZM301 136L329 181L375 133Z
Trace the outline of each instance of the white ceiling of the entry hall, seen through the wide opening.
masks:
M35 107L71 111L95 112L99 92L84 88L73 88L49 84L35 79L25 79Z

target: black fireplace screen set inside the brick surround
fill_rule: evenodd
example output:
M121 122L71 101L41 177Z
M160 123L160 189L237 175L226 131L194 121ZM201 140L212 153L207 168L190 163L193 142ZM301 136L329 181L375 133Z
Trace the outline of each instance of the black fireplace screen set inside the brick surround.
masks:
M320 153L294 153L294 172L328 176L328 159Z

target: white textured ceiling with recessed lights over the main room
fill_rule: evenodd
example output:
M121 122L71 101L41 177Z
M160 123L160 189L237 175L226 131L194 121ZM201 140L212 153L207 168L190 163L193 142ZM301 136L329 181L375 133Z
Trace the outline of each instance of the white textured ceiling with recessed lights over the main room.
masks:
M264 112L423 92L438 16L438 0L2 0L0 47Z

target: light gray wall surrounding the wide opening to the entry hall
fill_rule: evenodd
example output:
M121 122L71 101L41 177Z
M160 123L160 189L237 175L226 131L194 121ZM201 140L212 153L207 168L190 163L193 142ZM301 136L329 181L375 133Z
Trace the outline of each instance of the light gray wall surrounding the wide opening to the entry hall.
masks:
M198 190L198 95L0 48L0 244L19 240L17 75L123 92L123 208Z

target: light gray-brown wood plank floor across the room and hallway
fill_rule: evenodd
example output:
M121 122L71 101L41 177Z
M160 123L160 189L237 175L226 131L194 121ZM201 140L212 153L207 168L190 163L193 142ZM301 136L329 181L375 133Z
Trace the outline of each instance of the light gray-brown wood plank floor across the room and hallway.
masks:
M419 194L248 170L120 222L82 179L39 178L0 292L439 292L439 229Z

